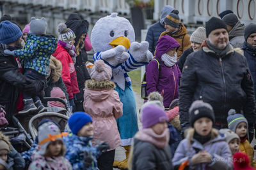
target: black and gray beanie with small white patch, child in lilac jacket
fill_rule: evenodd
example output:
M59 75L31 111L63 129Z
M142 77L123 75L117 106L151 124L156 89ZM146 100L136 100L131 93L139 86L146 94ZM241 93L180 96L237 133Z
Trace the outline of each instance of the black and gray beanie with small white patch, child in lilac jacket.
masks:
M194 101L189 108L189 122L190 126L194 127L196 120L202 117L207 117L212 120L212 125L215 122L214 111L211 104L203 101Z

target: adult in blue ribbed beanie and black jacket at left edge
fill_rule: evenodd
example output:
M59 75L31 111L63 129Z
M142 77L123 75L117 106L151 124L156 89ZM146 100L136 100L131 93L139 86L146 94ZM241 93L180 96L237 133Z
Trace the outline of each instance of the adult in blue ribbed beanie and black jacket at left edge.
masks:
M27 94L44 97L46 80L30 80L21 71L18 58L7 55L4 50L16 50L22 42L22 32L12 22L4 21L0 24L0 104L6 111L6 119L13 125L12 115L21 109L22 100L20 90ZM21 102L21 103L20 103ZM19 108L17 105L19 104Z

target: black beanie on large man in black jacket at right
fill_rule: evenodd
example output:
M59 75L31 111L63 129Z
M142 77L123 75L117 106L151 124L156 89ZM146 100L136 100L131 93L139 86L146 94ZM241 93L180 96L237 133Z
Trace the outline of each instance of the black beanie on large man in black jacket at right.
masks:
M221 20L220 18L212 17L205 25L206 37L208 37L213 30L221 28L228 31L227 25L223 20Z

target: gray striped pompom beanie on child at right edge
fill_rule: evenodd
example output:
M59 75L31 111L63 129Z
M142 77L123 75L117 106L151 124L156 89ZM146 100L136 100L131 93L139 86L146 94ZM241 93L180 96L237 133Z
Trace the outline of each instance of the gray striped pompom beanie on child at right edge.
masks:
M248 127L248 122L244 117L244 115L236 113L236 110L233 110L233 109L228 111L227 122L228 122L228 129L230 129L233 132L236 132L236 127L241 122L245 122Z

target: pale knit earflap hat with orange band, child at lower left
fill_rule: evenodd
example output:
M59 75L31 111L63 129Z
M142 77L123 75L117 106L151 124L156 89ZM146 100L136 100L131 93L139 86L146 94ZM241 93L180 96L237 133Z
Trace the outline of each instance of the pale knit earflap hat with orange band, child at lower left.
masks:
M38 141L40 145L39 154L44 155L47 146L52 141L63 141L60 129L52 122L46 122L40 125L38 129Z

